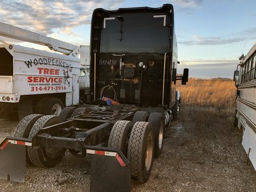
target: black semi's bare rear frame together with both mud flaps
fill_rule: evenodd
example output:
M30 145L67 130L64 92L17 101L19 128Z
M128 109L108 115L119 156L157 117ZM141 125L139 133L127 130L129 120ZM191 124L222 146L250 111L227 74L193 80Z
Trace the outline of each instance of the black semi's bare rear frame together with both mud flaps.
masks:
M26 146L46 148L48 154L54 155L63 153L65 148L84 153L91 160L91 191L104 191L108 188L112 191L130 191L129 161L119 149L102 146L106 146L108 140L105 135L110 134L114 123L118 120L132 120L133 115L133 112L91 111L79 118L43 127L33 139L6 137L0 143L0 178L24 182ZM77 138L71 138L74 136ZM110 179L106 180L106 177Z

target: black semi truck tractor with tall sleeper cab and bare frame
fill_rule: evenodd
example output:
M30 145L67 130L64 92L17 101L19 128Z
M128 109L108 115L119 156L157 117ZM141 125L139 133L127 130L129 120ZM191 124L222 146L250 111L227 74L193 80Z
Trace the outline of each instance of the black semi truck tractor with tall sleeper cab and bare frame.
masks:
M0 143L0 178L24 181L25 165L57 165L69 151L91 162L90 191L131 191L145 183L180 110L174 8L95 9L90 102L58 116L32 114ZM16 158L18 157L18 158Z

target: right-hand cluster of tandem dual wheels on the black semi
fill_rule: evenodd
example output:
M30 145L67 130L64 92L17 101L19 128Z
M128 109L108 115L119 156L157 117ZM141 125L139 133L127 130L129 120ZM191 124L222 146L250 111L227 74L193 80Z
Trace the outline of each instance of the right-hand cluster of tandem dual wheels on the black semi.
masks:
M147 121L147 122L146 122ZM163 149L164 119L160 113L138 111L133 121L117 121L111 131L109 147L118 148L130 161L132 177L145 183L150 177L153 159Z

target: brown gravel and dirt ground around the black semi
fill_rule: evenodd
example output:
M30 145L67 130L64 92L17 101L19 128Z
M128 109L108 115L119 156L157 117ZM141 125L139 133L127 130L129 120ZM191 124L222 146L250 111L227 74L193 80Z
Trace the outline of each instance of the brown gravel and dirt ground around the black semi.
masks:
M166 133L164 150L154 160L145 184L132 191L256 191L256 172L246 165L241 131L225 111L182 106L177 122ZM0 139L13 133L17 122L0 120ZM27 166L26 182L0 180L1 191L89 191L86 159L66 154L54 168Z

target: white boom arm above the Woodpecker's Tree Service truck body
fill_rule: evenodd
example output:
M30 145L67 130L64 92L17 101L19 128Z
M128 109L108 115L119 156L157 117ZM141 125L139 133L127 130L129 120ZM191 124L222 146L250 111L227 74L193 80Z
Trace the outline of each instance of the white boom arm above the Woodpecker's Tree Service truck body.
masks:
M80 47L70 44L65 41L40 35L38 33L14 27L0 22L0 36L5 36L17 40L23 40L47 46L50 50L57 51L66 55L78 57L80 54Z

